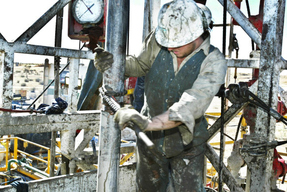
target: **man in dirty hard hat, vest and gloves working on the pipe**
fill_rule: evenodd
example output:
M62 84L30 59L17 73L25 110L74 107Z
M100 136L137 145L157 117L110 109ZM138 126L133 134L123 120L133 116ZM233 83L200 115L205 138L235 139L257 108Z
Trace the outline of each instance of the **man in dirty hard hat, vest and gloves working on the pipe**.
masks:
M112 54L99 48L95 66L112 66ZM132 121L154 142L153 150L137 140L137 191L204 192L202 170L209 135L204 112L224 83L227 65L210 45L204 12L193 0L164 4L158 27L136 56L126 59L126 76L145 76L141 113L122 108L115 121Z

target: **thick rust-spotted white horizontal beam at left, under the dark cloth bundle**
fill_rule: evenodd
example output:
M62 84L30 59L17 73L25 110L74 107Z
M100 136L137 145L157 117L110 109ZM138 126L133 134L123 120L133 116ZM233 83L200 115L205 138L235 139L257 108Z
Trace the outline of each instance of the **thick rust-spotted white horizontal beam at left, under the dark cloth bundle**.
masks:
M49 131L94 128L98 129L100 111L81 111L59 115L11 114L0 116L1 135L41 133Z

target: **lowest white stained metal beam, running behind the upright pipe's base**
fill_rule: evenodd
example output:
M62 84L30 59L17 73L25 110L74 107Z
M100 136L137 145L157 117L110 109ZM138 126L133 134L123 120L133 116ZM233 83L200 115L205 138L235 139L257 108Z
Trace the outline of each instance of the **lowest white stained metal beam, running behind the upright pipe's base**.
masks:
M135 192L135 164L120 166L119 168L119 192L127 189ZM29 192L95 192L97 171L84 171L80 173L62 175L53 178L40 179L27 182ZM1 186L1 192L16 192L11 185Z

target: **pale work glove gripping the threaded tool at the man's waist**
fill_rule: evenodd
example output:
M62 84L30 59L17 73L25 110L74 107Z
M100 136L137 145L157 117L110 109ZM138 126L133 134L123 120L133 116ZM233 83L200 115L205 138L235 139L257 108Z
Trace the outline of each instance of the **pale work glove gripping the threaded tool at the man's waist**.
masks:
M114 117L115 122L124 129L126 126L132 129L132 123L136 124L142 131L145 131L148 127L148 117L140 115L134 109L121 108L117 111Z

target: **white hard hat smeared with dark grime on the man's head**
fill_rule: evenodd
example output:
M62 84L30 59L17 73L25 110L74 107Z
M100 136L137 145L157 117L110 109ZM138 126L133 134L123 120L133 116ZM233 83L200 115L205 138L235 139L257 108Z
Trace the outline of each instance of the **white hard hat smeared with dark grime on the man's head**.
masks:
M164 47L179 47L200 37L208 29L203 11L193 0L164 4L158 17L156 39Z

